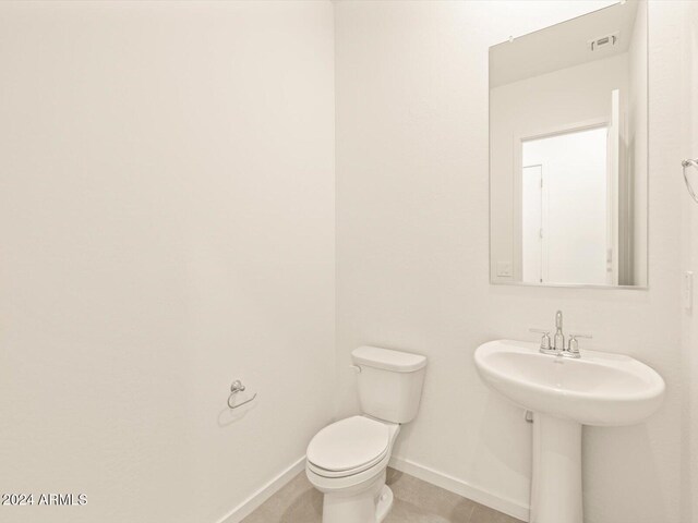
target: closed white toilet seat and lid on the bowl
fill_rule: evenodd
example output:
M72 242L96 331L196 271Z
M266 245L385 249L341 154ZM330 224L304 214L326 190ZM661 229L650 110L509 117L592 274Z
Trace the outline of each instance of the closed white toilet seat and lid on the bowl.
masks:
M390 450L390 428L352 416L323 428L308 446L308 466L323 477L347 477L381 463Z

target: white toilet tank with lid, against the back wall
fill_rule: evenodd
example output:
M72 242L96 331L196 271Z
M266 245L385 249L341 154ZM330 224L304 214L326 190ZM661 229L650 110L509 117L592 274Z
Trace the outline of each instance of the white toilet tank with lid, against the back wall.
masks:
M359 401L364 414L392 423L417 416L426 370L426 357L377 346L351 352L358 374Z

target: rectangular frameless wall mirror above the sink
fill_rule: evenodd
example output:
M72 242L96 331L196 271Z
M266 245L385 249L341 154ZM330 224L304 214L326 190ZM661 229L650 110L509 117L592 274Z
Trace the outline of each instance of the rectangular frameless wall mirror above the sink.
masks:
M647 287L647 2L491 47L491 281Z

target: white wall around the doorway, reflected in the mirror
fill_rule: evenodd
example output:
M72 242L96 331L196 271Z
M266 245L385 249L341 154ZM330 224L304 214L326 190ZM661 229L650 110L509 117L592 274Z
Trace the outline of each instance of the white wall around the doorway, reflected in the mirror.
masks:
M622 110L625 112L628 93L626 52L490 90L494 280L521 281L520 244L516 242L517 234L514 232L516 207L513 172L517 170L519 157L515 147L525 137L568 130L570 126L610 123L611 92L614 89L622 93ZM514 276L496 277L498 262L513 263ZM581 278L577 282L588 281ZM601 284L604 283L605 275L601 281Z

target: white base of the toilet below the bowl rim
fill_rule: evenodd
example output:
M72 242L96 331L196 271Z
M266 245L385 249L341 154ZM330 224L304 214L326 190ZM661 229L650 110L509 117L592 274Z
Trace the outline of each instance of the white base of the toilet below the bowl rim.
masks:
M393 491L385 484L385 471L370 485L360 487L360 490L325 492L323 523L381 523L393 507Z

